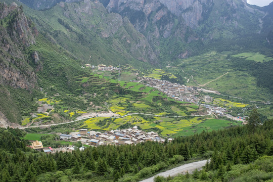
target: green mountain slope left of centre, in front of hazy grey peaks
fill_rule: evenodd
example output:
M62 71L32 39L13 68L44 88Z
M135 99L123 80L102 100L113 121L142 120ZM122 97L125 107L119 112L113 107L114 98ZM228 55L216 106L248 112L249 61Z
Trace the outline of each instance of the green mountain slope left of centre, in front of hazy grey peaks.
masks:
M158 63L145 36L137 32L127 18L108 14L99 2L61 2L47 11L26 7L26 14L39 31L50 34L52 41L91 64Z

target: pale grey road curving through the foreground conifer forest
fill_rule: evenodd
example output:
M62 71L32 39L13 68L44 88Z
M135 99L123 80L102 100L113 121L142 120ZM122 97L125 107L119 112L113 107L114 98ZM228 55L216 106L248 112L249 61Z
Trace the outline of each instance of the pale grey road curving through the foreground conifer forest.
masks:
M144 179L140 182L153 182L154 178L156 176L164 176L164 177L175 176L177 174L186 173L187 171L189 173L192 173L195 169L199 169L199 168L203 167L206 164L206 162L207 162L207 160L202 160L202 161L198 161L198 162L184 164L179 167L175 167L175 168L167 170L165 172L161 172L159 174L156 174L155 176L150 177L148 179Z

